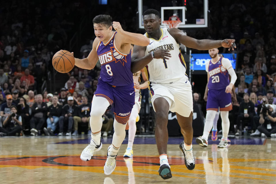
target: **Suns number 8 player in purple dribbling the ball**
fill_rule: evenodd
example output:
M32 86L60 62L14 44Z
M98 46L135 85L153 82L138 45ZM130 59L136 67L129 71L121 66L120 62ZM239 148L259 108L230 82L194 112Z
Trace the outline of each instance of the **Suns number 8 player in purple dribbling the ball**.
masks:
M91 70L97 61L101 64L97 90L91 104L91 141L81 153L81 160L88 161L95 151L102 147L102 115L113 104L114 134L107 150L104 173L110 175L116 166L116 156L126 136L125 127L135 102L133 75L131 72L131 44L146 46L150 40L142 34L126 32L119 22L113 22L109 15L98 15L93 19L96 39L85 59L75 59L75 65Z

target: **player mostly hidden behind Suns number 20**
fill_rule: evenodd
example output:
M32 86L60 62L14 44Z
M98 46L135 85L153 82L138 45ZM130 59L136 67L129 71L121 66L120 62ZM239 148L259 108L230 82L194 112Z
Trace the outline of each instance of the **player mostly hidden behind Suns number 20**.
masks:
M223 54L218 54L219 57L224 57ZM231 76L229 76L229 78L231 79ZM233 86L232 88L232 91L233 93L233 96L234 96L234 103L237 103L237 96L236 96L236 92L235 92L235 86ZM204 97L203 99L205 101L207 101L207 93L208 93L208 83L206 84L206 87L205 87L205 93L204 93ZM218 118L219 118L219 109L218 111L216 112L216 115L215 115L215 118L214 118L214 121L213 121L213 128L212 128L212 135L211 135L211 139L212 141L216 141L218 139L218 128L217 128L217 124L218 124ZM228 143L231 143L231 141L227 138L227 141Z

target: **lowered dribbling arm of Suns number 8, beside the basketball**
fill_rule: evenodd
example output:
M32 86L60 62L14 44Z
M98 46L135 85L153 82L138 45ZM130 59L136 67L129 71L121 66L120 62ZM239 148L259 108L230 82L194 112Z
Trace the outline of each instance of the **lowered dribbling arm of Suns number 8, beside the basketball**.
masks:
M83 68L87 70L93 69L97 64L97 61L99 60L99 57L96 51L98 44L99 44L99 39L96 38L93 42L93 47L89 55L84 59L75 58L75 65L79 68Z

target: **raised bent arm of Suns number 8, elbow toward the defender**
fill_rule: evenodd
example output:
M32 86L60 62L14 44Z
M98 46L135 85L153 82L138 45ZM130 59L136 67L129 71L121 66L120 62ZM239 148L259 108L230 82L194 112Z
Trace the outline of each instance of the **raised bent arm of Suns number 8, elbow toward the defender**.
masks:
M133 45L147 46L150 43L150 39L143 34L124 31L120 22L113 22L113 28L117 31L117 36L119 36L119 40L116 40L116 45L121 42L120 45L131 43Z

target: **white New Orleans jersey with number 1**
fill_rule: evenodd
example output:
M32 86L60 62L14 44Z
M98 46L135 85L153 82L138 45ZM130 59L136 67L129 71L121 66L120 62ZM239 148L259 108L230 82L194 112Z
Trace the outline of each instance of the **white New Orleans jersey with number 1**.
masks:
M186 63L181 54L179 44L169 34L167 28L161 28L162 35L159 40L150 38L150 44L147 46L145 55L158 49L166 49L170 51L172 57L170 59L153 59L145 66L145 73L149 84L152 83L173 83L181 78L187 78ZM144 34L148 37L148 34Z

